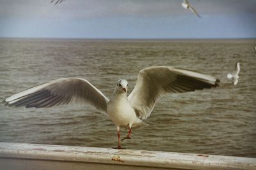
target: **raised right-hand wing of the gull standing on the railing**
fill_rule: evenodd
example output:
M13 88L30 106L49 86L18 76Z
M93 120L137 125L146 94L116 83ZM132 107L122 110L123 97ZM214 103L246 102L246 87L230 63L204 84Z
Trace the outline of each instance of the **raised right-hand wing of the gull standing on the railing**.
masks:
M140 71L128 99L138 117L146 119L164 95L216 87L219 81L213 76L186 69L147 67Z

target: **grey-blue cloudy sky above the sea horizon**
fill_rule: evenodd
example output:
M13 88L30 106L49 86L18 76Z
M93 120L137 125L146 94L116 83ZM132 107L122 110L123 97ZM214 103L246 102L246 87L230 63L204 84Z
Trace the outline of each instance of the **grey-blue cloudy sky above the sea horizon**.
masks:
M0 0L0 37L256 38L256 0Z

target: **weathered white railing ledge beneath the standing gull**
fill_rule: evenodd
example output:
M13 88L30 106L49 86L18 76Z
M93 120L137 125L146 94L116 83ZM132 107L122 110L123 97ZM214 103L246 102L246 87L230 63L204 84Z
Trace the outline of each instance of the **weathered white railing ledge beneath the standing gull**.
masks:
M0 143L0 169L256 169L256 159L146 150Z

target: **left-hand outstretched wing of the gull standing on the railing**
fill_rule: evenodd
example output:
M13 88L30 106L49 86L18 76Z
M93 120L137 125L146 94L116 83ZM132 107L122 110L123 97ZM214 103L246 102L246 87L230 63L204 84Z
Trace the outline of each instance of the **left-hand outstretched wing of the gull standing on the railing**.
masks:
M106 113L108 98L82 78L61 78L24 90L3 101L6 106L49 108L61 104L91 104Z

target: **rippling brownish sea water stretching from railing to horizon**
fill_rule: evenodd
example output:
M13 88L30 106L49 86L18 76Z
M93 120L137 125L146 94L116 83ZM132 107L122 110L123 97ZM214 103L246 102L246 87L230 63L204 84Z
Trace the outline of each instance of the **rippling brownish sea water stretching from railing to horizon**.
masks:
M156 104L150 126L134 129L129 149L256 157L256 39L111 40L0 39L0 99L57 78L90 81L107 97L116 81L148 66L211 74L220 87L169 94ZM227 73L241 63L237 86ZM127 129L122 129L125 136ZM116 127L90 106L25 109L0 105L0 141L112 148Z

